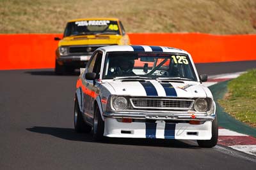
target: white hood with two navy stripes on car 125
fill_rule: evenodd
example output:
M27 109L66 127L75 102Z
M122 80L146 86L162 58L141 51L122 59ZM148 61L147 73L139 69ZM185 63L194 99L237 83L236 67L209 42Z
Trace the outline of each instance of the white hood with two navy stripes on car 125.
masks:
M106 87L117 96L212 97L210 90L196 81L108 81Z

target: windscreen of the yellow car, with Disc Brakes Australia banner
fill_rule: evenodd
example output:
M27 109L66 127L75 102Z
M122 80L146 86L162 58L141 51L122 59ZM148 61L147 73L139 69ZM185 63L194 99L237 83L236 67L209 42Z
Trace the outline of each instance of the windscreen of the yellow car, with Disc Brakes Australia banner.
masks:
M120 31L115 20L80 20L68 22L64 37L86 34L120 34Z

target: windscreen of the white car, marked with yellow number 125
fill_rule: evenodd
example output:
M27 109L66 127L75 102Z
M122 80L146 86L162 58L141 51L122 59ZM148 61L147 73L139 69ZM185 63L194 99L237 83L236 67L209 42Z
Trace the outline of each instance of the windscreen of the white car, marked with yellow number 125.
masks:
M103 79L126 76L147 78L184 78L196 81L196 74L184 53L108 52Z

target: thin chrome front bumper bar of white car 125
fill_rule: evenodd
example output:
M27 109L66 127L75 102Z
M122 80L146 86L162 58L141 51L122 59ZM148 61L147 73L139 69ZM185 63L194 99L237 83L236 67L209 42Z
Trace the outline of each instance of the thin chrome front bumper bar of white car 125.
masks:
M215 115L205 116L204 114L194 115L187 113L187 115L174 114L174 113L103 113L104 117L109 118L138 118L148 120L211 120L215 119Z

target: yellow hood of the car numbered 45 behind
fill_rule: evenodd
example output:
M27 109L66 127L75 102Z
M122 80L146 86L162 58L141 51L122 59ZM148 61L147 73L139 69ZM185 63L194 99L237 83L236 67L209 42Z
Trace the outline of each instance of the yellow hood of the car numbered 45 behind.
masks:
M65 45L118 45L122 36L120 35L86 35L68 36L59 42L59 46Z

